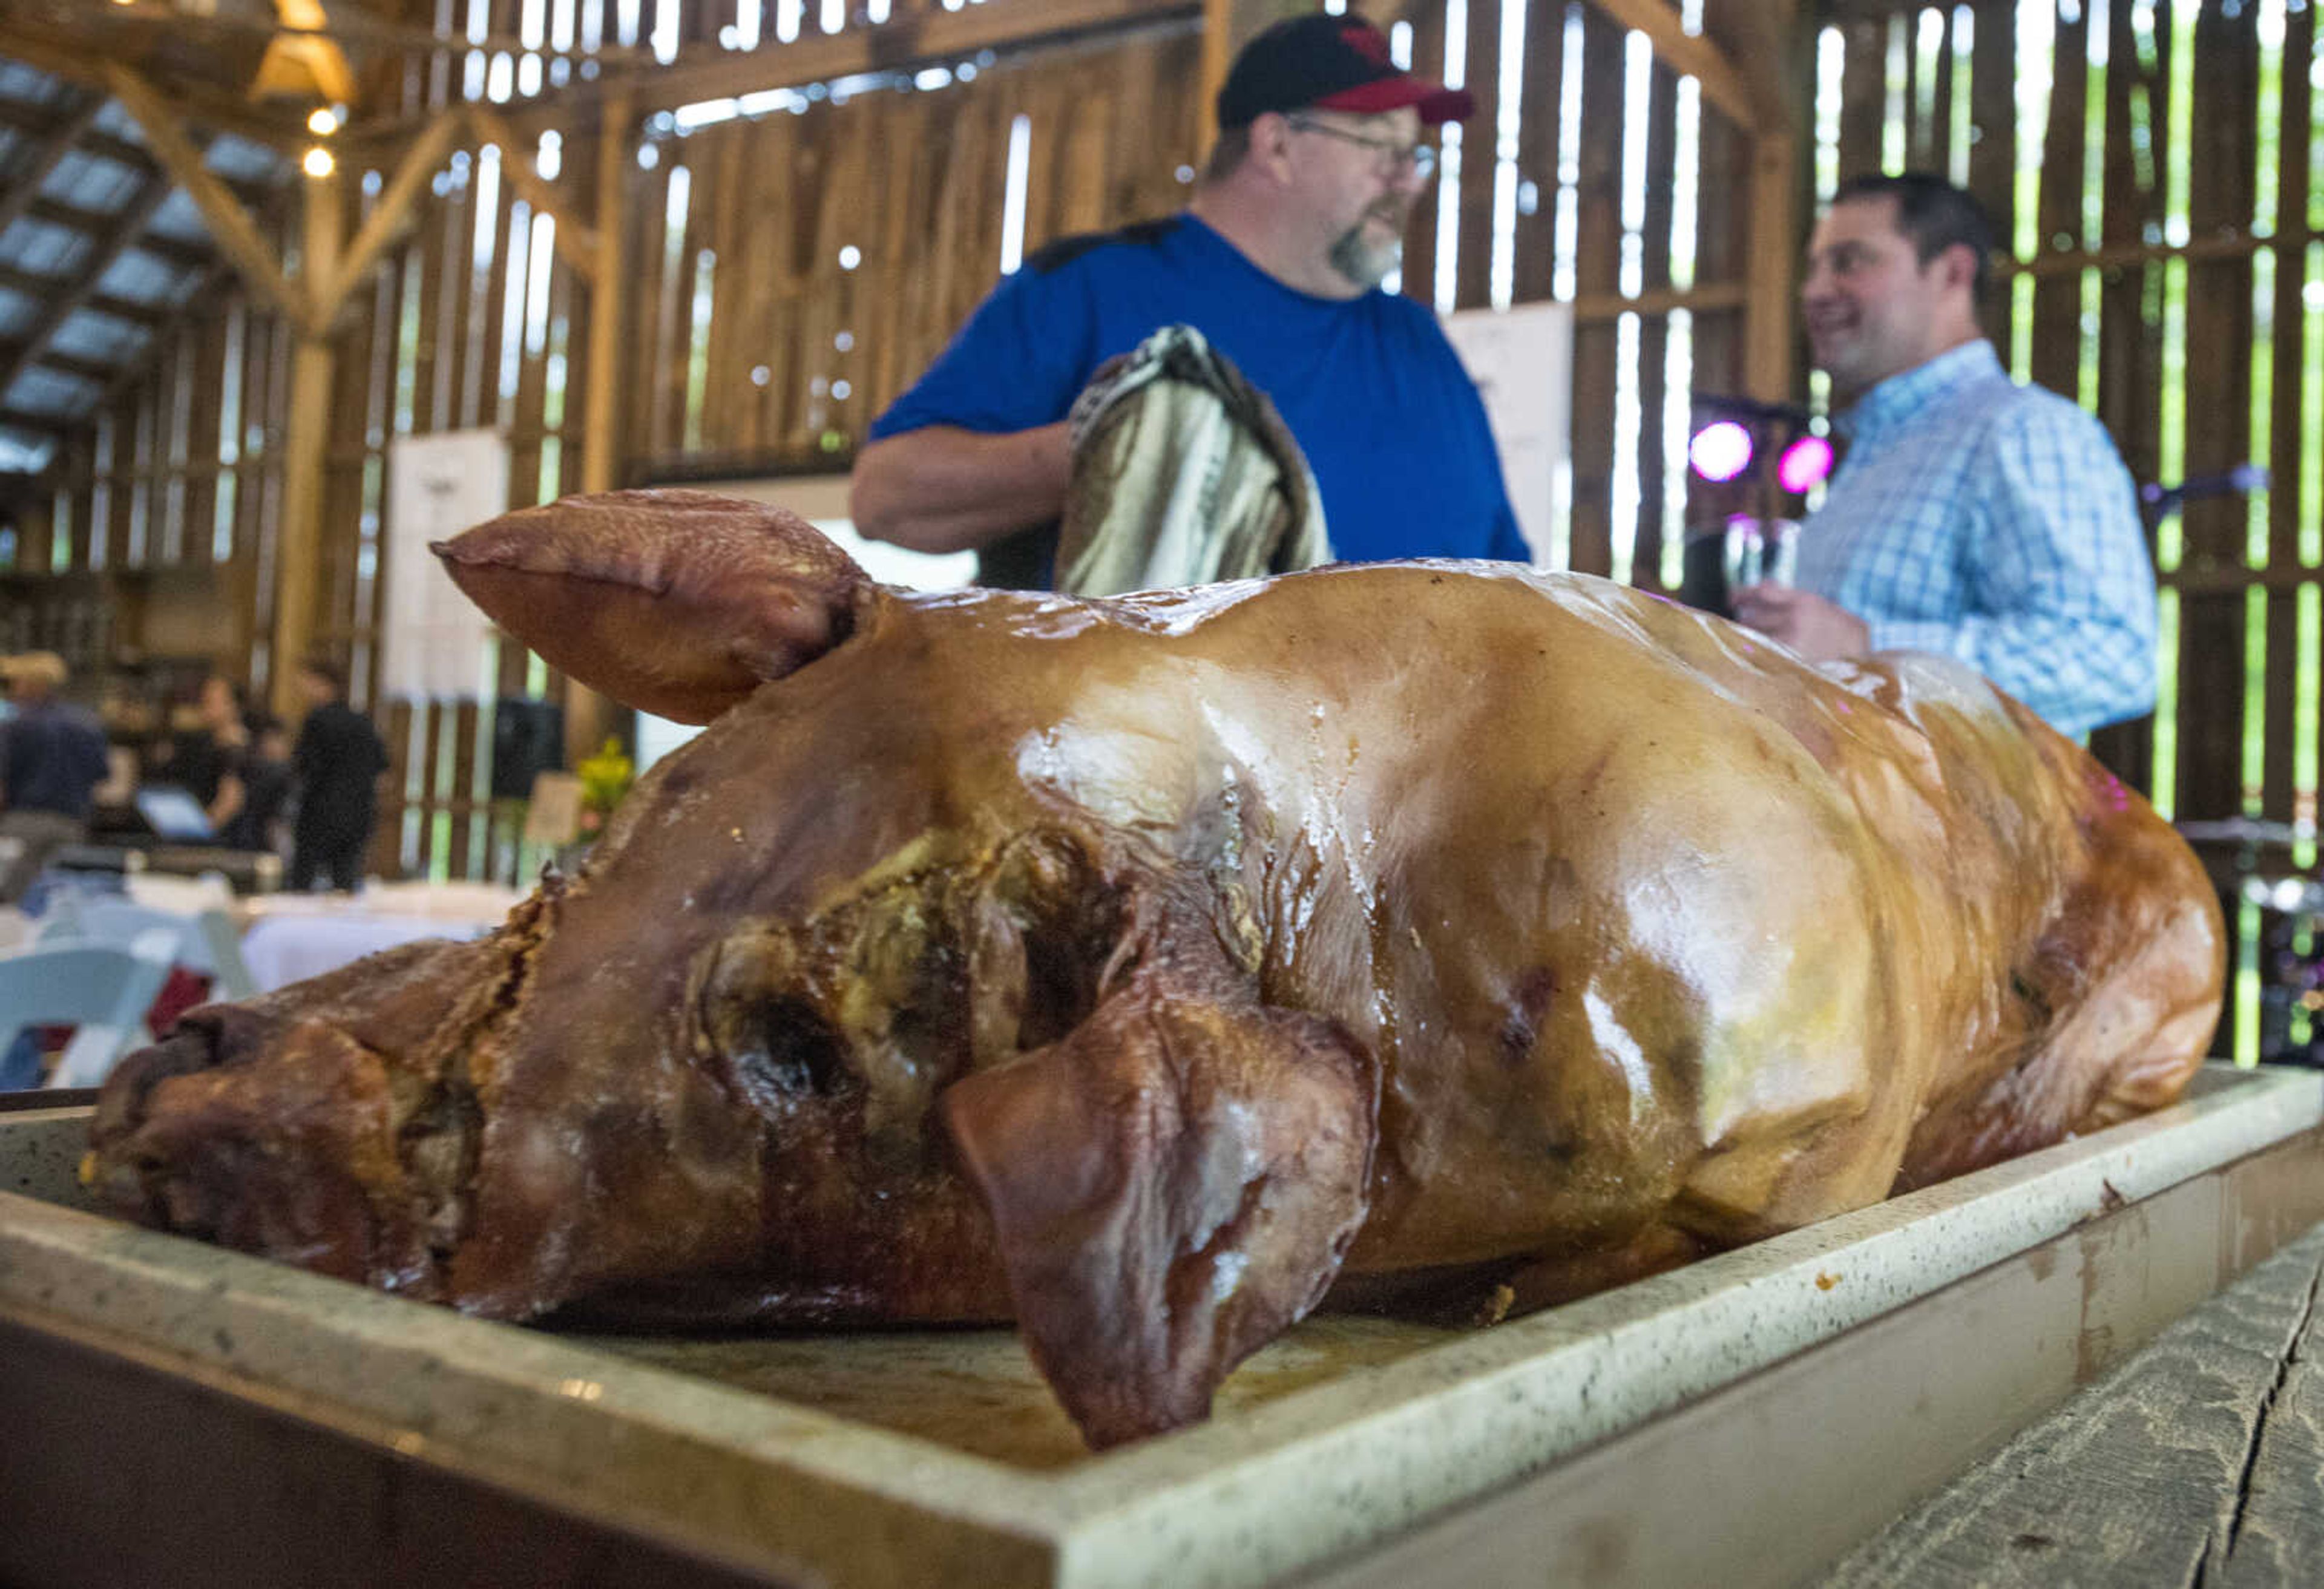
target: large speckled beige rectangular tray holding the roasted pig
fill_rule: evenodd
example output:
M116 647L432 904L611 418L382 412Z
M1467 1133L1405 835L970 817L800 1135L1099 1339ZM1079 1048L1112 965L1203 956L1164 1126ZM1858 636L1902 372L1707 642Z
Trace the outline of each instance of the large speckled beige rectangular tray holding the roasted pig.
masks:
M93 1213L86 1117L0 1115L0 1331L720 1582L1789 1582L2324 1220L2324 1076L2212 1066L2159 1115L1497 1329L1308 1320L1208 1424L1090 1457L1013 1333L465 1320ZM30 1373L0 1364L0 1512L63 1482ZM388 1524L335 1526L360 1559ZM0 1577L60 1570L26 1550Z

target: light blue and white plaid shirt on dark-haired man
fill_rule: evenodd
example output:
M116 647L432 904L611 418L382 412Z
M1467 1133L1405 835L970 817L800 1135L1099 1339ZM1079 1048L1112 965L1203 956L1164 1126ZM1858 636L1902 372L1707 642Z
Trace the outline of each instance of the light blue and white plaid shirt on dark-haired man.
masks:
M1989 341L1880 381L1799 541L1875 650L1968 662L2061 734L2154 709L2154 567L2106 427Z

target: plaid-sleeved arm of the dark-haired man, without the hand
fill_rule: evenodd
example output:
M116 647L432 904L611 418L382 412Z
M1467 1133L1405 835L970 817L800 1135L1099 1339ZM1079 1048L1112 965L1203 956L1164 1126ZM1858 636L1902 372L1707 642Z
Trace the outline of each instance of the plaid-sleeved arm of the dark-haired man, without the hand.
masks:
M1975 611L1875 623L1871 643L1954 655L2061 734L2152 711L2154 562L2106 430L2064 402L2024 404L1980 465Z

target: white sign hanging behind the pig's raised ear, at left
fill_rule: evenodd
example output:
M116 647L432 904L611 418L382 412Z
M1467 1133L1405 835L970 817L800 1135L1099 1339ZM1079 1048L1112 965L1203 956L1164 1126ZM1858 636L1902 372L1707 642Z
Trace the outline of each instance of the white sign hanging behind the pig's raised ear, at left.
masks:
M428 551L509 511L509 444L497 430L446 430L388 444L388 602L381 695L474 697L493 625Z

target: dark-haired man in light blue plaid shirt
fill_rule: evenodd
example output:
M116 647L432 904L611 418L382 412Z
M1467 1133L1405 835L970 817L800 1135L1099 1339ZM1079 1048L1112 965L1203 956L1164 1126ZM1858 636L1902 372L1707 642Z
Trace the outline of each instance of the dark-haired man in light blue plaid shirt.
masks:
M1841 186L1801 288L1848 458L1799 583L1736 592L1794 650L1959 657L2064 734L2154 706L2154 567L2096 418L2017 386L1978 328L1992 225L1927 177Z

